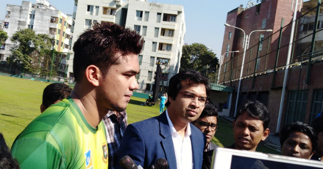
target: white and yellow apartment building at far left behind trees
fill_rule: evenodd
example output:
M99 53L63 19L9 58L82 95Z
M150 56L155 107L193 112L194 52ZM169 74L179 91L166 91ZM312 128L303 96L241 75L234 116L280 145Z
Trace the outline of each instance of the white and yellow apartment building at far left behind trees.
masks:
M73 18L60 12L46 0L36 0L36 4L23 1L21 6L7 5L6 10L3 30L9 38L4 50L0 50L0 60L6 60L10 55L10 47L14 45L10 37L19 29L29 28L36 34L48 34L55 40L55 50L65 53L54 60L58 74L64 76L71 50Z

